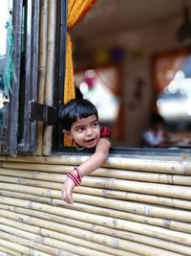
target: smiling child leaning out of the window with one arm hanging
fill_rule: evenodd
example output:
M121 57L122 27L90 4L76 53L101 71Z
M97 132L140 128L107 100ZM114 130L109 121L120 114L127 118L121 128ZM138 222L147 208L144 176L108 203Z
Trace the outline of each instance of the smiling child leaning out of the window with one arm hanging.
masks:
M74 186L80 185L84 175L90 175L106 162L112 146L111 131L106 127L100 130L96 106L85 99L74 99L64 105L59 119L64 134L75 142L78 150L95 149L85 162L74 167L62 186L62 198L73 203Z

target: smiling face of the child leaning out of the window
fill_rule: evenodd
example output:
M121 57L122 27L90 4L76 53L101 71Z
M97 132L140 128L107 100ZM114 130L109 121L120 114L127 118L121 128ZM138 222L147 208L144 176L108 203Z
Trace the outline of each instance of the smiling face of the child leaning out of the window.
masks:
M96 116L77 118L71 127L71 135L74 142L81 147L87 149L96 147L100 138L100 128Z

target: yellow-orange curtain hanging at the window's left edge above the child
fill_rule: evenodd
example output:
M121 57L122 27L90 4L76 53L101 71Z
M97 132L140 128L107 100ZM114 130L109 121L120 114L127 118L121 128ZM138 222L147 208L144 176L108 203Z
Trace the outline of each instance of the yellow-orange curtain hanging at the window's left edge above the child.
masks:
M75 98L74 93L74 68L72 41L69 30L90 10L96 3L96 0L68 0L67 1L67 45L66 45L66 70L64 85L64 104ZM65 146L71 146L72 143L67 138L64 139Z

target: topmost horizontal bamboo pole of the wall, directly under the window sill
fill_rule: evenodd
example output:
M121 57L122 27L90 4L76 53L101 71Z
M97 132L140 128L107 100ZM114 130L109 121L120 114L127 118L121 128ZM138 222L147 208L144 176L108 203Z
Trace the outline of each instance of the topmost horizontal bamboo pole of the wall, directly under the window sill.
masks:
M60 164L60 165L78 165L85 161L88 156L82 155L61 155L61 156L18 156L15 158L11 157L0 157L2 162L23 162L23 163L38 163L38 164ZM120 156L109 156L105 167L111 167L115 169L123 170L135 170L135 171L147 171L154 173L166 173L166 174L177 174L177 175L191 175L191 161L190 158L179 158L175 156L172 158L163 159L145 157L120 157Z

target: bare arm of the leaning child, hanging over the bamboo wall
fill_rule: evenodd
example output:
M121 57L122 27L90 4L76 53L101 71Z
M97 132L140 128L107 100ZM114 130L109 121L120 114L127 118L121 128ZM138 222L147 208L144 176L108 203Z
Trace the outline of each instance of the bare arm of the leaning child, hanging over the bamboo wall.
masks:
M81 176L90 175L93 171L99 168L102 164L107 161L108 154L111 148L111 142L107 138L100 138L97 145L96 151L93 153L85 162L83 162L78 168ZM76 171L74 170L74 175ZM74 181L68 176L62 186L62 198L68 202L73 203L73 190Z

